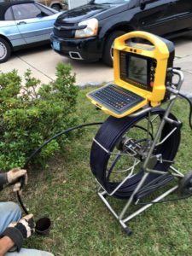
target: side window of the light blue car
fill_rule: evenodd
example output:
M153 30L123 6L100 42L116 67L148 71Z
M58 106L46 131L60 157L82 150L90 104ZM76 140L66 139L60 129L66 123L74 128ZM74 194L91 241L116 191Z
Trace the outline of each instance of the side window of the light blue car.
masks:
M41 15L41 10L34 3L22 3L12 6L15 20L32 19Z

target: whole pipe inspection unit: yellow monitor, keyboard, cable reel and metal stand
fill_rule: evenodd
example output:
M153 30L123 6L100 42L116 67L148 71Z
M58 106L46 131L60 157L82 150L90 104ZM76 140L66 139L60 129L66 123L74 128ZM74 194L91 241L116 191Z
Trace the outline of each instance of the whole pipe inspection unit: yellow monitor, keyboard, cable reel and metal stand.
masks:
M135 43L136 39L143 43ZM182 124L171 113L183 73L174 69L172 42L148 32L131 32L114 43L114 83L87 96L110 116L93 139L90 168L98 195L128 235L127 222L178 188L192 194L187 177L172 166L180 143ZM172 76L178 78L172 83ZM160 108L166 102L166 108ZM178 184L125 217L131 204L161 189L173 179ZM152 194L153 195L153 194ZM124 199L115 212L108 196Z

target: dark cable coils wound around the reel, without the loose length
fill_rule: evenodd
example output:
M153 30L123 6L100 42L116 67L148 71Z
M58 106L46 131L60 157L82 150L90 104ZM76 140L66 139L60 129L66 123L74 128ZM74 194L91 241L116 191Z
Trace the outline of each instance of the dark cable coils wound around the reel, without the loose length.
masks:
M165 110L161 108L154 108L151 113L160 115L160 118L163 117ZM113 151L113 148L118 143L119 138L123 136L125 131L131 129L132 126L136 125L138 121L147 117L147 113L143 113L139 117L130 118L125 117L122 119L116 119L112 116L108 117L108 119L103 123L101 128L96 134L96 141L101 143L104 148L107 148L109 152ZM177 120L176 117L171 113L169 115L171 119ZM171 125L166 123L164 126L161 138L166 137L170 131L175 127L175 125ZM177 149L180 143L180 130L177 129L173 132L172 136L170 136L165 143L162 143L156 150L156 154L162 154L162 158L166 160L173 160L175 155L177 154ZM102 186L111 193L114 188L119 183L108 182L107 179L107 166L110 155L105 152L97 143L93 143L90 150L90 168L96 179ZM154 166L156 170L166 172L169 168L170 163L158 163ZM128 179L121 188L114 193L114 197L126 199L129 198L133 190L136 188L137 183L143 177L143 170L137 172L134 177ZM146 183L151 182L154 178L157 178L156 174L149 174ZM146 185L146 183L144 185Z

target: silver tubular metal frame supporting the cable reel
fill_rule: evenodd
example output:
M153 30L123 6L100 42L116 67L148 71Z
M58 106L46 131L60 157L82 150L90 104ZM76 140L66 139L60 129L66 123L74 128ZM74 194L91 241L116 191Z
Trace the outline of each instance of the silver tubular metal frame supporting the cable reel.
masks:
M180 186L179 183L178 183L177 185L173 186L171 189L166 190L166 192L164 192L163 194L161 194L158 197L156 197L151 202L146 203L145 206L140 207L136 212L129 212L129 214L125 216L125 214L130 209L131 204L134 203L135 195L137 195L137 192L139 191L139 189L142 188L143 184L145 183L146 179L148 178L148 175L150 173L155 173L155 174L159 174L159 175L167 174L167 172L162 172L162 171L158 171L158 170L154 170L154 169L148 168L148 163L149 163L149 161L150 161L150 159L152 157L154 148L156 147L158 138L160 136L160 132L162 131L164 125L166 124L166 122L168 122L170 124L174 123L175 125L177 125L177 128L181 128L181 126L182 126L182 123L177 122L177 121L175 121L173 119L170 119L169 118L169 114L172 111L172 107L173 107L174 103L177 100L177 94L179 93L179 90L181 89L181 86L183 84L183 80L184 80L183 73L180 70L177 70L177 69L174 69L174 68L170 69L168 72L172 73L172 75L177 75L177 77L178 77L177 84L174 84L174 88L172 86L166 87L166 90L171 92L172 95L170 96L170 99L168 101L166 101L166 102L168 102L168 106L166 108L166 112L165 112L163 118L160 121L160 125L158 127L158 130L157 130L157 132L156 132L156 134L154 136L154 141L153 141L151 147L149 148L148 154L147 154L147 156L146 156L146 158L145 158L145 160L143 162L143 172L144 172L143 177L141 178L140 182L137 184L136 189L134 189L134 191L132 192L130 198L125 202L125 206L122 208L122 210L120 212L116 212L113 209L113 206L108 201L108 197L112 197L114 195L114 193L125 183L125 181L127 181L130 178L130 174L128 174L127 177L125 177L125 179L121 183L119 183L119 185L115 189L113 189L113 191L111 193L108 193L108 191L105 188L103 188L102 184L99 183L99 181L96 179L96 183L98 184L97 195L102 200L102 202L105 204L105 206L108 208L109 212L111 212L113 214L114 218L116 218L118 220L119 224L122 226L122 228L125 230L125 232L126 232L126 234L128 236L131 236L131 234L132 234L132 231L131 231L131 229L128 226L128 223L129 223L129 221L132 218L137 217L138 214L144 212L149 207L152 207L154 205L154 203L157 203L157 202L161 201L162 199L166 198L166 196L171 195L174 191L179 189L179 186ZM142 110L137 111L136 113L132 113L130 115L130 117L137 117L137 116L139 116L139 115L141 115L143 113L149 113L149 111L151 109L152 109L151 107L144 108ZM172 132L170 132L170 134L167 137L171 136L173 132L174 132L174 129L172 130ZM164 138L164 141L167 139L167 137ZM104 148L100 143L98 143L96 141L96 139L93 139L93 140L106 153L113 154L111 152L108 152L108 149ZM160 143L163 143L163 142L161 141ZM161 161L166 161L166 160L162 160L162 159L160 159L160 160ZM181 180L184 177L183 173L179 172L172 165L169 167L169 172L168 173L171 174L171 176L173 178L177 178L179 180ZM192 174L191 174L191 178L192 178ZM139 201L139 199L135 202L135 205L137 205L138 201Z

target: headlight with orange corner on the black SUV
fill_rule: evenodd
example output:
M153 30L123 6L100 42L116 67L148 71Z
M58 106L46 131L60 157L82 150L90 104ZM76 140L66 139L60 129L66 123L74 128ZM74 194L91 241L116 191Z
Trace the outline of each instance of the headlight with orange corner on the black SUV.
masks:
M75 38L89 38L96 36L98 32L98 20L92 18L79 22L78 26L86 26L83 29L76 30Z

